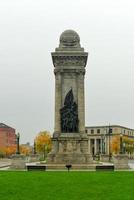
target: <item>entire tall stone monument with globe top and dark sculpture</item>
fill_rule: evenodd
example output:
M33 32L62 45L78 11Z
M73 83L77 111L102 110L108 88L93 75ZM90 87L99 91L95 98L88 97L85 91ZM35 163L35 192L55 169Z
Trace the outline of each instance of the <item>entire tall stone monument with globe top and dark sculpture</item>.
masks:
M48 163L90 163L85 133L84 76L87 57L88 53L80 46L79 35L73 30L64 31L59 47L52 53L55 129Z

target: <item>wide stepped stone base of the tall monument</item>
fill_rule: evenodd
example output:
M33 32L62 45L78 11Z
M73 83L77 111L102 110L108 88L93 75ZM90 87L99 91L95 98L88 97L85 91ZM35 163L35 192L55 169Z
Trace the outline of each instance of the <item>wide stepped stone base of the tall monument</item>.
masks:
M78 133L62 133L52 139L52 151L47 156L48 164L90 164L88 138Z

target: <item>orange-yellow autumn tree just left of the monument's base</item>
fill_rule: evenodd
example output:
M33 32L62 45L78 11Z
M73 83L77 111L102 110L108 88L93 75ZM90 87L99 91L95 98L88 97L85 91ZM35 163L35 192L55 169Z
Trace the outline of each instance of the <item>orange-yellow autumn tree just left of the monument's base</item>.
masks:
M51 135L48 131L41 131L35 138L36 151L48 153L51 150Z

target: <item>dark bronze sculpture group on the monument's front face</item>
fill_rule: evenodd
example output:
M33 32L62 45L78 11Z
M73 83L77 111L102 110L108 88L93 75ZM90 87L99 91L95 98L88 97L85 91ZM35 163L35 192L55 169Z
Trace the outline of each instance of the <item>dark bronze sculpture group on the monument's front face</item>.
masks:
M72 89L67 93L64 106L60 109L62 133L78 132L78 107Z

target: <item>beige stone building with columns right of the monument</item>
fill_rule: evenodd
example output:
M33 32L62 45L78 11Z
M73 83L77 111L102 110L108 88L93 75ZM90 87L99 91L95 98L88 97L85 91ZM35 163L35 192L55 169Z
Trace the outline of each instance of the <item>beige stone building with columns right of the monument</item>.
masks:
M86 127L89 152L96 154L134 154L134 129L120 125Z

